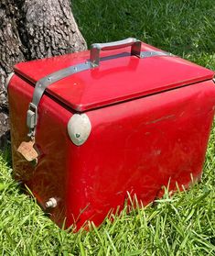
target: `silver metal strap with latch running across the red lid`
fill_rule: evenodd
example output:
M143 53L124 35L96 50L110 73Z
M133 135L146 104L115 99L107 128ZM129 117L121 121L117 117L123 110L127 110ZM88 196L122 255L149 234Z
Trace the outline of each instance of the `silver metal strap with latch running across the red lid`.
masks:
M166 51L141 51L140 56L138 58L144 59L154 56L174 56L171 53ZM102 61L102 60L101 60ZM91 61L86 61L85 63L77 64L74 66L70 66L68 68L59 70L58 72L53 72L45 76L44 78L38 80L35 86L32 102L28 106L27 110L27 127L29 128L28 137L35 136L35 128L38 123L38 104L47 89L48 85L51 83L56 83L59 80L66 78L74 73L83 72L86 70L90 70L96 68Z

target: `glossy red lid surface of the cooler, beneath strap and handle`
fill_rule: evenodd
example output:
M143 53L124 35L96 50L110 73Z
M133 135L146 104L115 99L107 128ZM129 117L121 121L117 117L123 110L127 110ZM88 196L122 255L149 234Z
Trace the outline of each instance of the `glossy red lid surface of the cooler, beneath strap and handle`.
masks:
M142 43L142 50L158 49ZM101 51L101 57L112 55L113 58L100 61L99 67L77 72L52 83L46 91L67 106L85 111L209 80L214 75L214 72L176 56L140 59L131 56L130 51L129 47ZM114 58L114 55L122 52L126 52L124 57ZM90 51L82 51L44 60L20 62L16 64L15 72L31 83L37 83L52 72L89 59Z

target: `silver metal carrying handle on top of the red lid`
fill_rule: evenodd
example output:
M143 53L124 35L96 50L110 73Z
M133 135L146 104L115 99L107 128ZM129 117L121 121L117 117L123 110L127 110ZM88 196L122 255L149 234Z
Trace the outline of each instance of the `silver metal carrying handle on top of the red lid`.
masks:
M91 65L96 67L100 63L100 50L115 50L131 46L131 55L140 57L141 41L134 38L108 42L108 43L93 43L91 45Z

